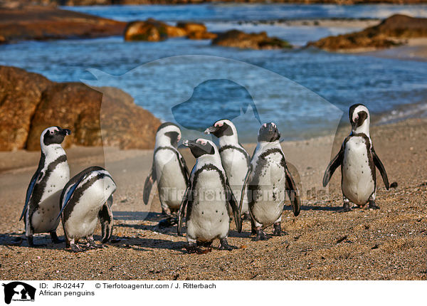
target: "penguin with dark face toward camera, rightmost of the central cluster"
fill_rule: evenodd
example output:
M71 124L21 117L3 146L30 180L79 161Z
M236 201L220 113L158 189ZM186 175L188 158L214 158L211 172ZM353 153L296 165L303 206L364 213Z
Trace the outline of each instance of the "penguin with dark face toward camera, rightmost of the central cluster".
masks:
M242 194L246 193L249 199L255 241L266 240L263 229L272 224L274 224L273 235L281 235L280 223L286 193L292 204L294 216L300 214L300 194L286 165L279 139L280 133L273 122L261 125L258 145L253 152L251 167L243 184Z

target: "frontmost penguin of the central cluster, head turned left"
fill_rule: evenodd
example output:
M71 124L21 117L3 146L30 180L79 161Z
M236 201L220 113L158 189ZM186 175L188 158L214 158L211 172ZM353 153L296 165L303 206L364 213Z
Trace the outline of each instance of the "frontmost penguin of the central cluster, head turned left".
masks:
M191 171L189 187L179 206L178 235L181 233L186 209L186 240L189 242L189 253L201 253L198 245L207 246L208 250L211 250L211 243L216 238L221 243L220 250L232 250L235 247L227 242L230 227L228 204L233 209L239 233L241 218L218 149L214 142L201 138L185 140L183 144L190 148L197 160Z

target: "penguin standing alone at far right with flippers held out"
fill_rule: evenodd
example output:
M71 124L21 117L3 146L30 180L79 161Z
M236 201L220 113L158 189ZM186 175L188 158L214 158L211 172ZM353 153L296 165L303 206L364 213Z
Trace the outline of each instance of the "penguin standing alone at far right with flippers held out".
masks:
M369 202L369 209L379 209L375 204L375 167L379 169L387 190L389 179L369 135L369 110L362 104L352 105L349 108L349 120L352 132L344 139L337 156L328 165L323 176L323 186L327 186L335 169L341 166L343 210L351 210L350 202L358 206L364 206Z

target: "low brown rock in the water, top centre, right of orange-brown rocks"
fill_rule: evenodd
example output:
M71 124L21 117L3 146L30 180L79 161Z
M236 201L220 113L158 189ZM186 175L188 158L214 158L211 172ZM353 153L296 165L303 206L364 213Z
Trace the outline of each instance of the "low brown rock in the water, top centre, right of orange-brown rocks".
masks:
M287 41L283 41L280 38L268 37L265 32L245 33L238 30L219 33L218 37L212 41L212 44L224 47L249 49L292 48Z

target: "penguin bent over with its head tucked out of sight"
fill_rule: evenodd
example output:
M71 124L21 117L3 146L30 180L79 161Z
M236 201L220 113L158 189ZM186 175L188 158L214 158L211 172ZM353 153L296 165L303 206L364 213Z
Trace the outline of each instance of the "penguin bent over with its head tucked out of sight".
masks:
M86 238L88 247L99 248L93 241L93 232L100 220L102 243L112 234L112 194L116 184L107 170L89 167L74 176L60 194L60 213L67 247L74 252L82 251L77 244ZM58 218L59 218L58 216Z

